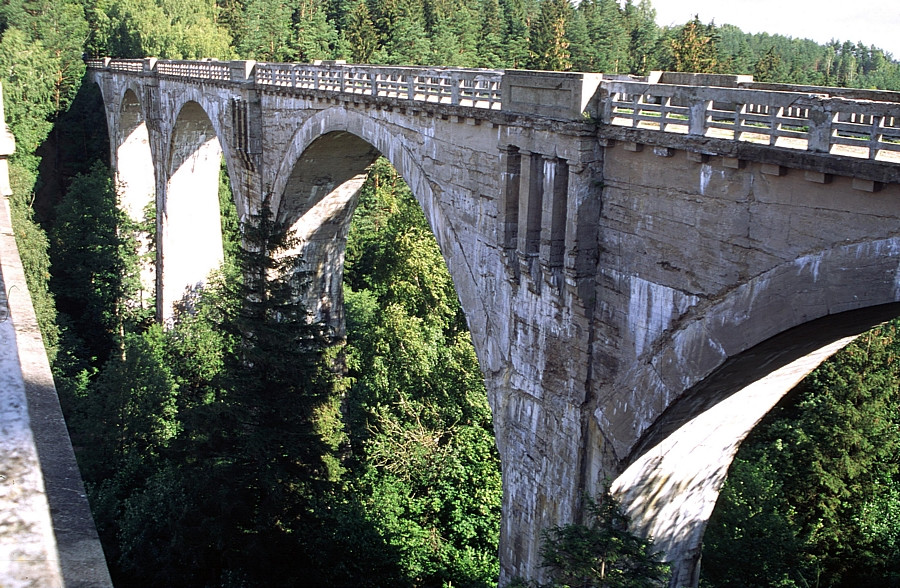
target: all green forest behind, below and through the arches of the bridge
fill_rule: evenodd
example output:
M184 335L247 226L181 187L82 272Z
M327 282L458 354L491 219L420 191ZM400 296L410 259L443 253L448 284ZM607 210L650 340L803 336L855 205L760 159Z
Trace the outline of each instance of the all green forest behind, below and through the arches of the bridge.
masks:
M276 255L291 236L266 215L240 225L224 172L226 261L163 328L140 278L155 211L134 222L117 208L85 56L663 69L900 90L900 63L874 46L739 25L659 27L650 0L4 0L16 238L116 585L496 585L502 489L466 319L396 171L379 160L360 193L346 341L294 303L302 263ZM701 586L900 586L898 328L820 366L745 441ZM658 558L596 498L593 523L548 529L551 585L659 585ZM572 545L590 547L587 564ZM602 550L619 575L591 571ZM644 575L614 563L625 551Z

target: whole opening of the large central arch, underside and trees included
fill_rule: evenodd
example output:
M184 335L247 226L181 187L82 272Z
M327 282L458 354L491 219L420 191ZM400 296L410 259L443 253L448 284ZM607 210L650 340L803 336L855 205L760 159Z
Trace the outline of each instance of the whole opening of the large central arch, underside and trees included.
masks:
M377 155L320 137L279 207L303 243L308 308L346 335L345 479L375 531L363 551L370 574L390 570L376 583L491 585L502 491L481 371L422 208Z

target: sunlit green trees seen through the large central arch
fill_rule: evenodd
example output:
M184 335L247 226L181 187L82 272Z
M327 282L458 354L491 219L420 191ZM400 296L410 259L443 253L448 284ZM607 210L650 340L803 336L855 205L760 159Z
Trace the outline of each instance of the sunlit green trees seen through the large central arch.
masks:
M437 244L384 160L345 267L353 488L405 578L383 582L489 585L501 488L486 392Z

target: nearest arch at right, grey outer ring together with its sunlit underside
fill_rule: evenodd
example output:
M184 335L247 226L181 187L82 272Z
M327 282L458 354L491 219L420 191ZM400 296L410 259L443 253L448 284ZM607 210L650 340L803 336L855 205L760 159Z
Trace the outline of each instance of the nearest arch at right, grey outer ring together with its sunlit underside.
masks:
M898 301L900 237L838 245L689 313L627 376L665 406L645 412L657 418L619 447L613 489L643 533L663 538L673 586L696 585L703 533L741 442L809 372L900 316Z

